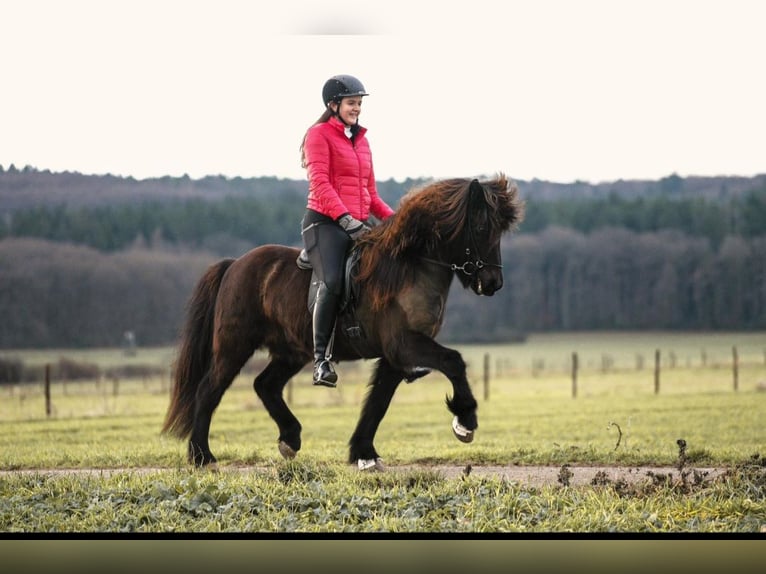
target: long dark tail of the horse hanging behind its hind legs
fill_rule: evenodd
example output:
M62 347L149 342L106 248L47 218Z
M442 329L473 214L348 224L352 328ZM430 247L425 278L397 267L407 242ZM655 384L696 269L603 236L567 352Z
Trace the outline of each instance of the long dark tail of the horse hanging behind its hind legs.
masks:
M211 265L189 299L186 323L175 364L170 405L162 432L184 439L194 426L194 400L200 382L210 370L215 300L221 280L234 259Z

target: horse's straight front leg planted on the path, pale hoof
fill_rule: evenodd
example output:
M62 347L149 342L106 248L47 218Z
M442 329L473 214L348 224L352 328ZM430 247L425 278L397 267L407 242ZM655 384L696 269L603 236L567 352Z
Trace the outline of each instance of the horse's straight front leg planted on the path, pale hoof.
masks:
M382 469L373 441L402 377L402 371L394 369L388 361L378 360L370 379L370 390L365 397L362 414L349 440L348 460L350 463L356 462L361 470L372 467Z

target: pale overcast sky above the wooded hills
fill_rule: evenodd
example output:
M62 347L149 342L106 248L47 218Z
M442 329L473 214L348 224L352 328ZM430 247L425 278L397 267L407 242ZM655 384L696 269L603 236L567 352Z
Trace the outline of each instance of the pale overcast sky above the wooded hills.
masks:
M305 178L334 74L376 175L766 172L760 0L0 0L0 165Z

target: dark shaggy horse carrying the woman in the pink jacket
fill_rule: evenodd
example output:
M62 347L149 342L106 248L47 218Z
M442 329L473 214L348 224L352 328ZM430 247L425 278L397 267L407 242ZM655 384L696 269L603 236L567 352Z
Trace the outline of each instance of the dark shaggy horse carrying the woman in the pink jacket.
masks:
M377 358L349 462L382 469L373 445L378 425L402 380L424 369L444 373L453 387L447 406L463 442L478 426L476 399L460 353L437 343L454 277L478 295L503 285L501 236L523 217L517 187L494 179L448 179L405 195L394 215L357 241L355 294L338 317L333 360ZM308 293L312 273L298 249L256 247L212 265L189 301L171 402L162 431L189 439L189 462L216 461L208 436L213 412L257 349L270 361L253 386L279 427L285 458L301 448L301 425L283 398L287 382L313 357ZM321 391L317 391L321 392Z

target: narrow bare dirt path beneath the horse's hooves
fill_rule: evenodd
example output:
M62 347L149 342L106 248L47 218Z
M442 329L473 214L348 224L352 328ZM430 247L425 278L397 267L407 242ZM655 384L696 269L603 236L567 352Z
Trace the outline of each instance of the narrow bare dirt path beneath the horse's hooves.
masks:
M95 475L111 476L118 473L152 473L172 470L168 468L72 468L72 469L28 469L0 471L0 477L11 474L44 474L44 475ZM273 472L273 467L267 466L222 466L218 472ZM667 477L670 480L680 480L681 472L676 467L650 466L460 466L460 465L402 465L387 466L386 472L408 472L413 470L432 470L444 475L447 479L459 479L463 476L496 477L528 486L563 485L583 486L591 484L606 484L624 481L635 484L641 481L651 481L654 477ZM714 480L724 474L727 469L716 468L686 468L684 471L693 473L703 481ZM691 480L691 479L690 479Z

